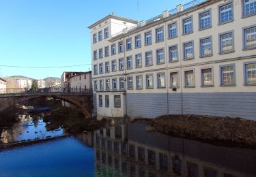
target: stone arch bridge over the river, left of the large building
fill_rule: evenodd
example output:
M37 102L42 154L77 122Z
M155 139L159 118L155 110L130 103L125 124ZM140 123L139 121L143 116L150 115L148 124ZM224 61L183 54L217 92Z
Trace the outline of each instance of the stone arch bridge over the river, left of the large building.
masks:
M32 92L32 93L8 93L0 94L0 111L13 106L16 103L35 99L39 97L51 97L67 101L79 108L85 116L91 117L93 109L92 93L72 93L72 92Z

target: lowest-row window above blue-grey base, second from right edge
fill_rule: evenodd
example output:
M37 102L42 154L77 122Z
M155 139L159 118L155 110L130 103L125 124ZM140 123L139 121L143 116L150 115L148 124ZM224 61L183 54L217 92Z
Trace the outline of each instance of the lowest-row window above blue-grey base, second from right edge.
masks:
M221 65L221 85L235 84L235 65Z

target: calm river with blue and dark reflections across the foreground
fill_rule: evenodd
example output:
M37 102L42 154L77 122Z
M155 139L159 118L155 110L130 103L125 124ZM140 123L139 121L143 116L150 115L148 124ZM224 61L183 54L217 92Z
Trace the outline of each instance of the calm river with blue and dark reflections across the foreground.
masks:
M0 176L256 176L256 150L175 138L145 123L63 137L45 125L24 118L12 129L12 142L24 143L0 150ZM55 138L40 140L47 136Z

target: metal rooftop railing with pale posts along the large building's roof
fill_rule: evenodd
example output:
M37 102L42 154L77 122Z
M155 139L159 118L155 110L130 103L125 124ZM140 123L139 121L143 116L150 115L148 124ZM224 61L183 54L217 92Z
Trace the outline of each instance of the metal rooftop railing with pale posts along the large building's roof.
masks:
M182 11L184 11L184 10L188 10L189 8L194 7L194 6L196 6L196 5L199 5L200 3L203 3L203 2L205 2L205 1L208 1L208 0L193 0L193 1L190 1L190 2L188 2L188 3L185 3L184 5L182 5L182 10L181 10L180 12L182 12ZM176 8L174 8L174 9L172 9L172 10L169 10L168 13L169 13L169 16L173 16L173 15L179 13L179 11L177 10L177 7L176 7ZM158 21L158 20L161 20L162 18L164 18L164 17L163 17L163 14L160 14L160 15L158 15L158 16L155 16L155 17L153 17L153 18L150 18L150 19L148 19L148 20L145 20L145 25L150 24L150 23L152 23L152 22L156 22L156 21ZM139 27L141 27L141 22L138 23L137 25L134 25L134 26L130 27L130 28L123 29L122 31L113 34L111 37L116 37L116 36L118 36L118 35L123 35L123 34L125 34L125 33L130 32L130 31L133 31L133 30L135 30L135 29L138 29Z

